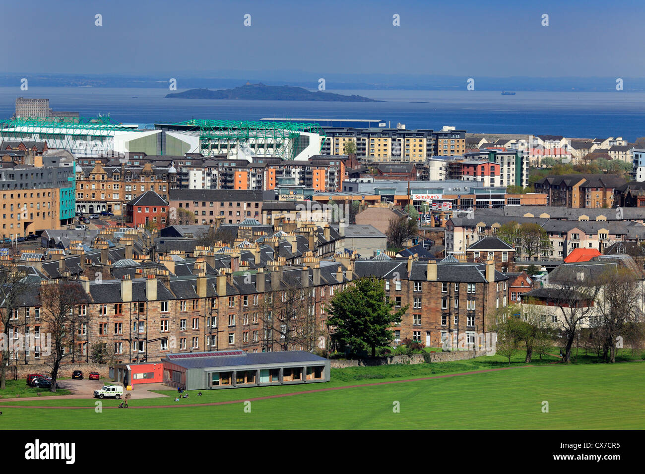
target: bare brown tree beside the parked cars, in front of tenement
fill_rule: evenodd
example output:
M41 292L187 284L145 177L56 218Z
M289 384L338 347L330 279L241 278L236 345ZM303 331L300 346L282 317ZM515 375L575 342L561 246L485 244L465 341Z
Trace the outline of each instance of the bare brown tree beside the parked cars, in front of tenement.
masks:
M38 304L41 306L43 322L41 333L47 333L52 340L52 347L48 348L51 352L48 365L51 368L52 392L56 391L56 379L62 360L77 351L73 336L75 315L88 302L88 295L78 282L44 282L39 288Z

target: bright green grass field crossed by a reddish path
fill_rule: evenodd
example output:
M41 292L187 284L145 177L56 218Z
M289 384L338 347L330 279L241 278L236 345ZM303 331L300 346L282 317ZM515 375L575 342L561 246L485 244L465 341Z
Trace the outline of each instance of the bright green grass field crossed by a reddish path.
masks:
M631 357L624 353L624 360ZM115 400L103 400L96 413L95 400L37 400L12 405L86 406L81 410L0 408L0 429L642 429L645 428L645 363L579 363L526 367L518 355L509 370L458 375L431 380L343 388L391 380L436 377L464 371L506 368L497 356L461 362L379 366L332 371L332 382L307 386L239 388L191 392L189 399L132 400L131 406L176 405L173 408L105 409ZM579 362L591 362L579 358ZM303 393L253 400L244 412L243 400L321 388L341 390ZM166 392L163 392L166 393ZM184 407L182 404L241 400L218 406ZM399 402L400 412L393 412ZM549 412L542 412L547 401ZM3 404L0 400L0 404Z

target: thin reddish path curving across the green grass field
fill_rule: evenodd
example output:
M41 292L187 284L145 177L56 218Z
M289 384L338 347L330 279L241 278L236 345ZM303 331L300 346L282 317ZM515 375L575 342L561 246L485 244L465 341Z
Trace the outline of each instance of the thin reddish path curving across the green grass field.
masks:
M373 386L378 386L378 385L386 385L386 384L402 384L406 382L420 382L421 380L433 380L433 379L445 379L446 377L459 377L461 375L474 375L477 373L486 373L486 372L497 372L501 370L512 370L512 369L519 369L523 367L535 367L533 365L528 365L528 366L515 366L515 367L501 367L497 369L484 369L484 370L473 370L470 372L460 372L460 373L447 373L444 375L432 375L432 377L419 377L417 379L402 379L402 380L388 380L386 382L372 382L369 384L355 384L355 385L344 385L341 387L328 387L328 388L317 388L315 390L303 390L303 391L293 391L289 393L279 393L276 395L266 395L265 397L253 397L251 399L239 399L239 400L225 400L223 402L210 402L210 403L190 403L190 404L180 404L180 405L150 405L150 406L130 406L132 409L143 409L143 408L192 408L192 407L198 407L198 406L218 406L218 405L230 405L234 403L244 403L244 402L255 402L259 400L270 400L270 399L279 399L282 397L293 397L294 395L304 395L306 393L317 393L321 391L334 391L334 390L346 390L348 388L362 388L362 387L373 387ZM70 398L81 398L77 397L75 395L63 395L61 397L56 397L57 399L62 399L63 397L70 397ZM29 399L35 399L35 397L30 397ZM3 400L3 402L8 402L8 401L24 401L28 400L26 398L24 399L6 399ZM42 400L41 397L38 398L38 400ZM132 402L132 400L130 400ZM0 408L46 408L46 409L59 409L59 410L94 410L94 406L19 406L19 405L0 405ZM104 408L118 408L116 406L106 406Z

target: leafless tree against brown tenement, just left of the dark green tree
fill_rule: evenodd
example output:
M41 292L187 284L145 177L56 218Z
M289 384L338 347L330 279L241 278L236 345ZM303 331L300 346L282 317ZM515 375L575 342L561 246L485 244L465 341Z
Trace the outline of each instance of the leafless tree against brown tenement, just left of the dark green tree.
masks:
M312 351L317 348L323 331L316 324L311 293L310 288L295 284L264 293L256 306L263 323L261 343L264 350Z

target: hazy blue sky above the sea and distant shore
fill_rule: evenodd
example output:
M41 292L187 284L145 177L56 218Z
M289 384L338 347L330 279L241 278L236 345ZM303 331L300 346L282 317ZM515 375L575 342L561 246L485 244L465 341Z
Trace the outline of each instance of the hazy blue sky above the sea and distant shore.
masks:
M645 77L644 13L598 0L2 0L0 72Z

